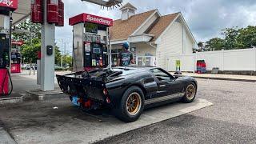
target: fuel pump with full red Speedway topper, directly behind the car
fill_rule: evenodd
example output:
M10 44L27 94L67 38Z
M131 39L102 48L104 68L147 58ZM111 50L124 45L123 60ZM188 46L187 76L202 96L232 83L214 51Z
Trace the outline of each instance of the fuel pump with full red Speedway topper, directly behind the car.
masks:
M108 27L110 18L93 14L79 14L70 18L73 26L74 71L106 68L109 65Z

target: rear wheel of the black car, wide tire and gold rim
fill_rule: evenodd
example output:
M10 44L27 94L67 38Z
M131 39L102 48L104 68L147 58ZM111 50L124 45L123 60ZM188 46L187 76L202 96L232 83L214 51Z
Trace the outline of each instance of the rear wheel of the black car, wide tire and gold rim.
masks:
M131 86L122 96L115 116L125 122L136 121L144 109L144 94L138 86Z

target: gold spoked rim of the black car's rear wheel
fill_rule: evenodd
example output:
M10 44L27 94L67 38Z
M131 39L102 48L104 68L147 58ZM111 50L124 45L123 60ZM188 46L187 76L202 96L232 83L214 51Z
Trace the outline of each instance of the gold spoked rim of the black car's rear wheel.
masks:
M138 114L141 109L142 98L137 92L130 94L126 101L126 110L130 115Z

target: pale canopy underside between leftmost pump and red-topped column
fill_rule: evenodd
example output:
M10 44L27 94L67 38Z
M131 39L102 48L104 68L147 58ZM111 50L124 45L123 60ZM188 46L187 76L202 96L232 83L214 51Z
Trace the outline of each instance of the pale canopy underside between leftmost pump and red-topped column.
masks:
M13 25L24 21L26 18L30 17L30 6L31 0L19 0L18 9L13 13Z

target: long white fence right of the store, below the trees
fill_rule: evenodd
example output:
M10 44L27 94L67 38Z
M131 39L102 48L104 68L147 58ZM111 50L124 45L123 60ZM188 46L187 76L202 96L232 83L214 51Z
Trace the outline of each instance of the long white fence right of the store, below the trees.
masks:
M206 70L218 67L222 71L256 71L256 48L242 50L219 50L198 52L195 54L175 54L167 58L167 69L176 70L176 60L181 61L182 71L196 70L197 60L205 60Z

